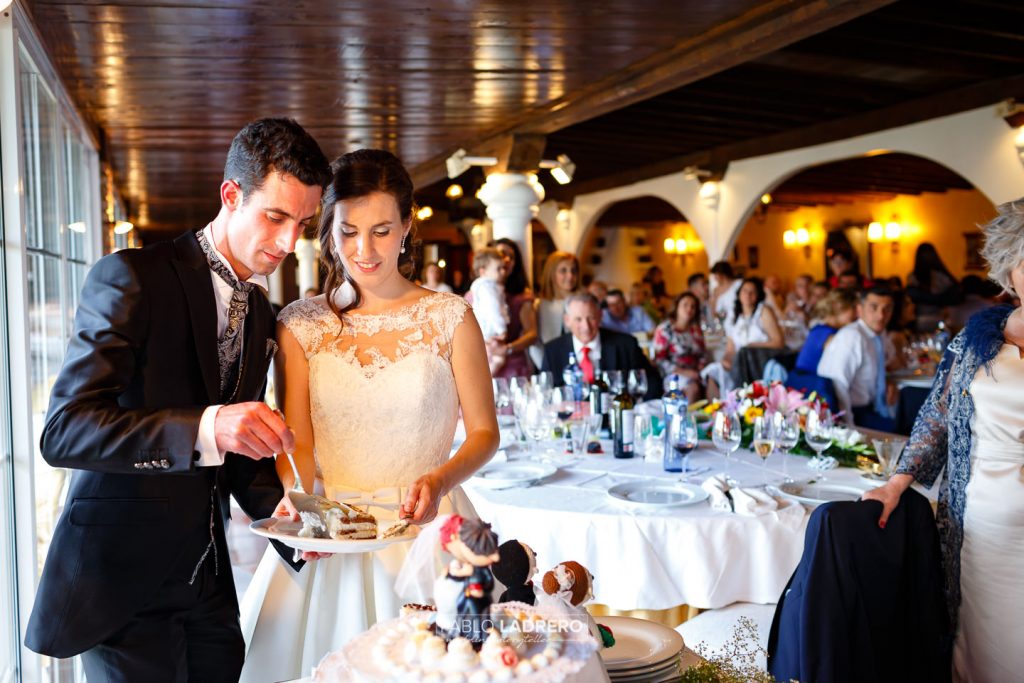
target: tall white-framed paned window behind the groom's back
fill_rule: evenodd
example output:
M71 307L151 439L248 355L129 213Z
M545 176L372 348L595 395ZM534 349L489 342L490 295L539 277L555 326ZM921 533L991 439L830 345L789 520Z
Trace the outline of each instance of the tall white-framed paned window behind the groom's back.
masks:
M5 427L0 436L12 445L7 449L5 443L0 443L6 449L0 456L12 453L13 465L16 465L11 466L11 458L0 460L0 488L13 489L12 481L16 480L22 496L14 502L16 516L0 509L0 569L3 569L0 591L5 591L0 592L0 614L15 617L0 626L3 638L0 641L0 683L6 683L2 675L2 667L9 659L4 654L8 651L6 648L22 657L11 680L22 676L50 683L71 683L82 678L77 659L36 657L18 647L18 632L19 627L20 630L25 628L27 608L34 598L31 593L49 550L70 479L67 470L52 468L42 460L39 437L50 390L63 360L85 273L98 252L98 163L96 152L59 84L50 72L39 69L43 62L35 57L41 52L30 49L31 46L31 41L19 42L16 55L9 55L16 56L15 66L6 68L17 75L17 96L14 105L0 109L5 117L17 115L17 136L11 142L19 152L14 168L24 188L22 202L14 212L9 211L9 203L17 202L18 197L3 198L8 203L7 216L22 219L18 226L22 239L4 245L10 272L2 282L9 291L9 298L5 293L3 299L7 305L3 322L11 328L9 334L14 336L14 341L19 342L11 343L7 367L23 370L13 380L0 375L0 380L8 380L0 385L0 391L12 396L7 403L12 405L11 424L4 424L7 415L0 416L0 426ZM4 67L7 56L0 55L0 68ZM45 59L45 56L40 58ZM9 168L9 159L6 163ZM8 221L8 234L10 229L13 225ZM27 308L22 302L27 302ZM29 459L33 461L31 468L26 462ZM31 480L29 475L22 474L30 471ZM31 501L26 500L25 494L30 494ZM5 494L0 498L4 505L10 500L11 497ZM34 524L27 522L27 518L34 520ZM4 529L9 520L15 522L17 533L9 537L16 539L17 552L11 552L11 558L16 559L8 563L5 552L13 548ZM20 587L19 592L15 591L15 586ZM4 596L10 598L9 605L4 602ZM13 667L16 660L10 660Z

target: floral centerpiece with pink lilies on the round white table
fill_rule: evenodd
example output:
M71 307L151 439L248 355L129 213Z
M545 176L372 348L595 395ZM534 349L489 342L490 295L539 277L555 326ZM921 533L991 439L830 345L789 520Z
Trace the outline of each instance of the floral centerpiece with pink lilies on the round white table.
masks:
M804 395L802 392L784 386L781 382L775 381L770 384L764 382L753 382L737 389L733 389L726 396L717 401L707 403L703 407L694 408L708 419L714 419L715 413L720 410L727 410L736 413L742 418L742 441L740 445L744 449L751 447L754 440L754 419L769 412L790 415L797 413L801 416L800 440L790 453L798 456L814 456L815 452L807 444L803 426L806 424L806 416L810 411L818 405L827 407L825 401L815 393ZM873 459L874 451L865 442L863 435L856 429L848 429L843 426L831 428L833 442L822 455L831 456L840 465L845 467L857 467L857 458L866 457Z

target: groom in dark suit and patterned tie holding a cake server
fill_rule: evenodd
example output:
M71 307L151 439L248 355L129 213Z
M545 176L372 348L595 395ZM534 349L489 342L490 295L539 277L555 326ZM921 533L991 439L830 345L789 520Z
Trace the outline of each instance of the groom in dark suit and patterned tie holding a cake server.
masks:
M89 272L42 435L43 458L75 472L26 634L81 653L89 683L239 679L228 498L269 517L272 456L294 446L261 402L276 348L263 290L330 178L297 123L256 121L231 142L212 223Z

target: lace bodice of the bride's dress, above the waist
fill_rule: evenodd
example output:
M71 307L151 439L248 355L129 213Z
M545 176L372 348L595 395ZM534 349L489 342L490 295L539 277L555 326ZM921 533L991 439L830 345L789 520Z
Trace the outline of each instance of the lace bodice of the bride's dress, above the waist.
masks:
M281 312L309 364L314 452L329 492L406 486L447 459L459 414L452 340L467 309L458 296L432 293L387 313L346 313L343 326L323 295Z

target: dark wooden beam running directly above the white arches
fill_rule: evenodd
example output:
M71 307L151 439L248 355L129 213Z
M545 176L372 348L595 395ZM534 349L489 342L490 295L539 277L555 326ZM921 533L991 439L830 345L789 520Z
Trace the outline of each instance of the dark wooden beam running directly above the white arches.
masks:
M905 126L928 119L957 114L977 106L993 104L1008 97L1024 99L1024 74L985 81L965 88L921 97L893 106L827 121L798 130L741 140L718 147L687 154L656 164L628 169L602 178L563 185L551 199L568 201L575 195L597 193L629 185L682 171L687 166L726 165L738 159L776 154L787 150L843 140L880 130Z

